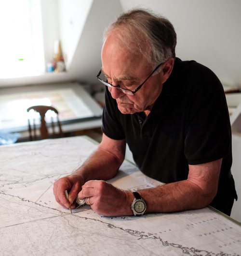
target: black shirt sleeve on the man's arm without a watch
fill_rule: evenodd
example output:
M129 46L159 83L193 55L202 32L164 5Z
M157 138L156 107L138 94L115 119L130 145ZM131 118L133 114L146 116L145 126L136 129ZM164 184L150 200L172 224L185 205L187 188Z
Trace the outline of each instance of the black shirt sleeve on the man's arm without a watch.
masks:
M111 139L124 139L125 134L120 123L120 115L116 100L111 97L111 94L106 88L105 105L102 115L102 132Z

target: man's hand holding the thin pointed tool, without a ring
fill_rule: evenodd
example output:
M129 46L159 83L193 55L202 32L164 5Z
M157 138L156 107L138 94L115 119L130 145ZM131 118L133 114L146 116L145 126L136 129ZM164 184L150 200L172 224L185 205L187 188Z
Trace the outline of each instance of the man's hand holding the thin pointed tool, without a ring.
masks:
M84 180L79 175L68 175L54 182L55 200L63 207L69 208L81 190ZM68 192L68 199L65 194Z

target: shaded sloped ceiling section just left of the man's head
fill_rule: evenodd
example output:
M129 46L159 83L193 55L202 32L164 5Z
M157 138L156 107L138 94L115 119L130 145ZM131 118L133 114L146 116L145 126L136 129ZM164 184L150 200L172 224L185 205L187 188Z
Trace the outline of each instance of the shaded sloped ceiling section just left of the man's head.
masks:
M81 82L96 83L96 75L101 67L103 32L121 12L119 0L93 1L69 67Z

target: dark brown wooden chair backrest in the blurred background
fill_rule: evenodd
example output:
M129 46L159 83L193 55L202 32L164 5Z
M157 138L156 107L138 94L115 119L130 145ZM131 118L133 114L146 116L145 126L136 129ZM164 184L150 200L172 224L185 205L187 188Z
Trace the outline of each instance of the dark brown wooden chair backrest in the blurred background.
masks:
M45 105L37 105L37 106L30 106L27 109L27 112L29 112L31 109L35 110L36 112L39 112L40 114L40 137L41 139L46 139L49 137L49 131L46 125L45 121L45 114L48 110L52 110L56 113L56 121L54 122L54 118L51 117L51 126L53 131L53 137L63 137L63 132L61 129L61 124L59 122L58 118L58 111L53 106L45 106ZM32 127L31 127L31 120L32 120ZM37 126L36 126L36 120L35 118L28 117L28 132L29 132L29 138L30 140L36 140L38 138L37 135ZM58 133L55 132L54 126L58 126Z

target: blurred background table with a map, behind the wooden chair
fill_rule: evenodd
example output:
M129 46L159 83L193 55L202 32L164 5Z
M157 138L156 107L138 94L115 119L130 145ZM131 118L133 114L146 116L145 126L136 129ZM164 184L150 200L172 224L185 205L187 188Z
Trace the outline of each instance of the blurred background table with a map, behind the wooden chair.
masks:
M27 108L32 105L54 106L64 133L98 128L102 124L102 108L83 86L59 83L0 88L0 130L19 132L20 140L26 140L29 136Z

